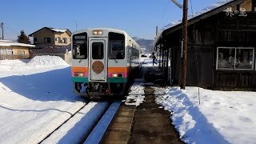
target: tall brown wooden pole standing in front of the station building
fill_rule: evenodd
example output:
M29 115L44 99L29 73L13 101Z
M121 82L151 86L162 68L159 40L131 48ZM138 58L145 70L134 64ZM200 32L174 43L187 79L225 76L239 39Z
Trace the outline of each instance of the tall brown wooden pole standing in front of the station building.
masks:
M187 57L187 10L188 0L183 0L183 66L182 66L182 84L181 89L185 90L186 87L186 57Z

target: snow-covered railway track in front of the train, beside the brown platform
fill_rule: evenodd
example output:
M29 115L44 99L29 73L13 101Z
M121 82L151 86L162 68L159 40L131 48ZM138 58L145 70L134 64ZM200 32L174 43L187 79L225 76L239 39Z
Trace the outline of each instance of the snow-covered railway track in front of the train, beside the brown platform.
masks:
M106 130L120 103L88 102L39 143L82 143L96 137L100 140L105 133L102 127Z

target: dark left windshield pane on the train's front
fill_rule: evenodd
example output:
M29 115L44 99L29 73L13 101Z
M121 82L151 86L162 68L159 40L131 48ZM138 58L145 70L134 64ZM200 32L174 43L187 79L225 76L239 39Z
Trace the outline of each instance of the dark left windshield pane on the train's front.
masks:
M73 58L86 59L87 58L87 34L73 35Z

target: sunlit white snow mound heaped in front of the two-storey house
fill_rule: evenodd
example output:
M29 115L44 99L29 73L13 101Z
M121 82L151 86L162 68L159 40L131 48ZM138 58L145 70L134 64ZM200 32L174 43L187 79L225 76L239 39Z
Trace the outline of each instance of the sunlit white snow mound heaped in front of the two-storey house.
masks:
M35 56L27 64L28 66L69 66L62 58L50 55Z

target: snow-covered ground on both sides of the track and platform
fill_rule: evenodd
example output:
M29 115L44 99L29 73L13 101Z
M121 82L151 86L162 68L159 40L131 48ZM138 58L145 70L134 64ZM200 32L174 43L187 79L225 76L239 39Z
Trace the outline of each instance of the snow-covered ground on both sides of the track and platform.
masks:
M142 69L152 66L150 58L142 61ZM143 102L142 85L137 81L132 86L127 102ZM173 114L170 118L184 142L256 143L255 92L154 89L163 94L156 102ZM73 94L70 66L61 58L0 61L0 143L38 143L84 103Z

